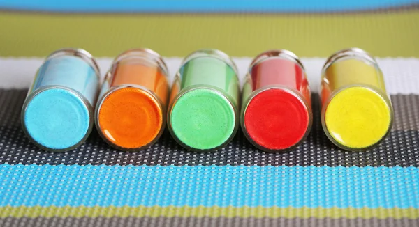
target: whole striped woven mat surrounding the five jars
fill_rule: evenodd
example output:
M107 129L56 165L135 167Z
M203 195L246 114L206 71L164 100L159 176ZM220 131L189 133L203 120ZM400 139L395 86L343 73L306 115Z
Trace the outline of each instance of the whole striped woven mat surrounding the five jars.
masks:
M419 1L215 2L0 0L0 227L419 226ZM87 49L103 73L125 49L147 47L171 74L212 47L236 56L240 78L252 56L290 49L314 93L325 57L360 47L378 57L395 125L372 150L340 150L314 94L313 129L291 152L260 152L241 132L217 152L187 152L168 132L120 152L96 130L71 152L44 152L24 136L20 109L62 47Z

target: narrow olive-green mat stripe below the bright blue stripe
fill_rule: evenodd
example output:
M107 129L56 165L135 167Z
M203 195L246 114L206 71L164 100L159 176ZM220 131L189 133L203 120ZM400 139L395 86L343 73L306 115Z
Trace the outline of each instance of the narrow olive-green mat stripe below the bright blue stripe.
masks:
M418 219L419 209L414 208L249 208L249 207L0 207L4 217L285 217L285 218L394 218Z

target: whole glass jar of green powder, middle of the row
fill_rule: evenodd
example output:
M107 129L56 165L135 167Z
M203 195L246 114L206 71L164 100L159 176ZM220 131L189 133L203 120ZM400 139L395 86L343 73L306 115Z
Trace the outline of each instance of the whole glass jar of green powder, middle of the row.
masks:
M218 150L239 125L239 79L233 60L216 49L184 58L170 95L168 128L184 148Z

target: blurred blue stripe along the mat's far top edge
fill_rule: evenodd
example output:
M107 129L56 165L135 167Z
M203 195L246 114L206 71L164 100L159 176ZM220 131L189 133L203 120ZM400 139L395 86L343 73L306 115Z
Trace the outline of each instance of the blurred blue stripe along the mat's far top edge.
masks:
M0 0L0 8L59 12L330 12L374 10L419 3L419 0L154 0L54 1Z

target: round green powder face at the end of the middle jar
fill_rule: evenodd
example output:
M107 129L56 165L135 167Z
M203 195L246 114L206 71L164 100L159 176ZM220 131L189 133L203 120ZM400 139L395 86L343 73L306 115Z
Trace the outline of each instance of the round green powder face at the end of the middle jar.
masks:
M214 90L189 91L172 109L173 132L191 148L216 148L230 138L234 127L233 107L226 97Z

